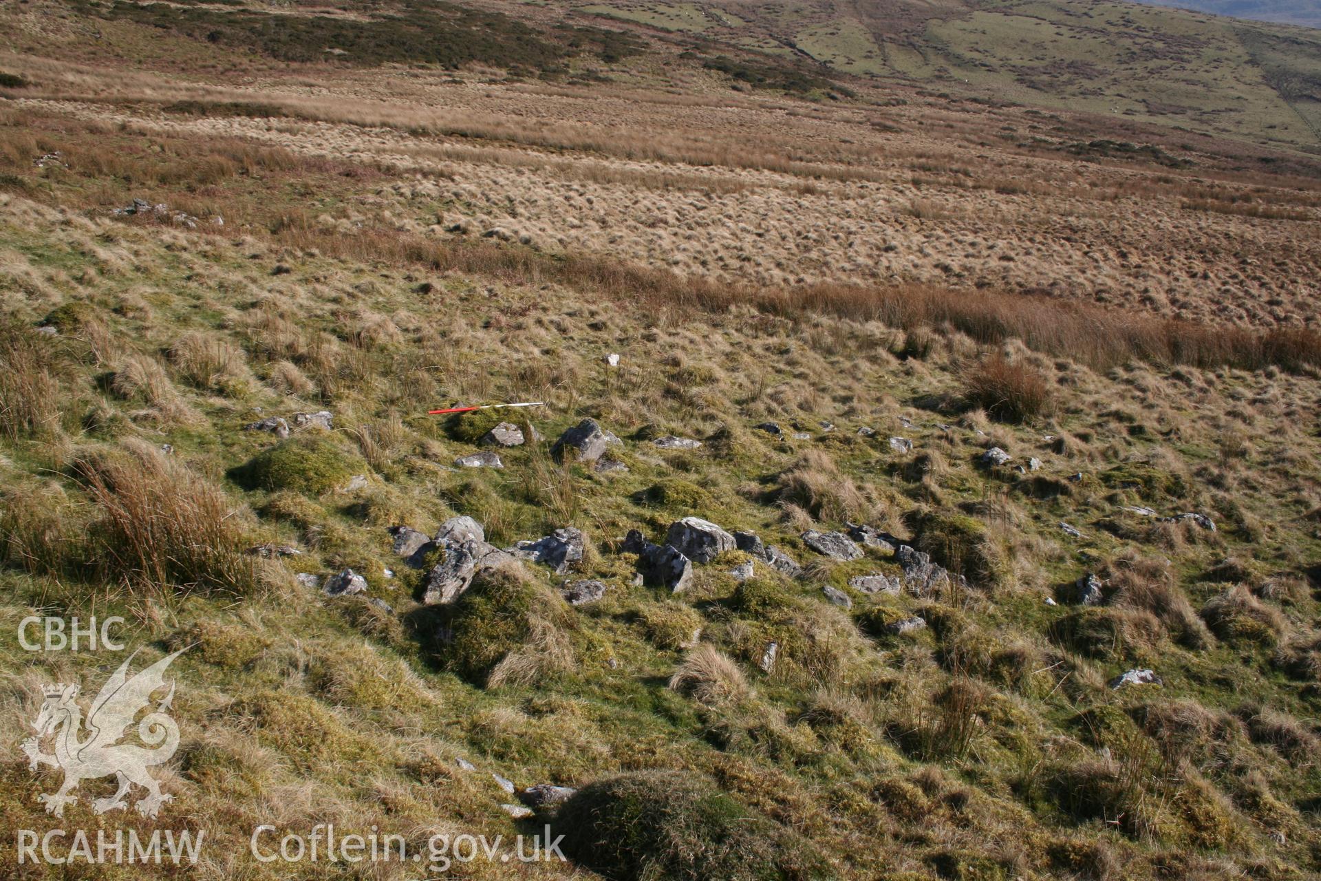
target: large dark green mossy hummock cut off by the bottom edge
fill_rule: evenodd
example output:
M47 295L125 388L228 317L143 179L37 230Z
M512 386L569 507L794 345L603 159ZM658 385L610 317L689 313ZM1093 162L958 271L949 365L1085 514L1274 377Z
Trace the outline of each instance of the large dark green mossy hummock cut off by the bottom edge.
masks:
M560 808L555 833L575 861L620 881L835 877L807 840L682 771L585 786Z

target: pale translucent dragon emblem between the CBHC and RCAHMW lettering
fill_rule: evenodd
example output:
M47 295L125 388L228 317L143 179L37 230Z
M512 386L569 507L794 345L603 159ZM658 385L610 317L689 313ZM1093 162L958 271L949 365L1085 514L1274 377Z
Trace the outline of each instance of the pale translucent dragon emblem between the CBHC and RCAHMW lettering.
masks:
M32 722L37 736L22 741L22 752L26 753L32 770L37 770L40 765L50 765L65 771L65 782L59 791L37 796L38 802L45 803L48 814L63 816L65 806L78 800L78 796L70 793L78 789L82 781L111 774L119 782L119 791L110 798L92 800L92 810L96 814L127 810L128 800L124 796L133 785L147 790L147 795L133 806L147 818L155 818L161 804L174 798L161 793L160 783L147 771L153 765L168 762L178 749L178 725L168 715L174 700L173 680L169 682L165 697L137 721L137 737L145 746L120 741L128 734L128 728L137 713L151 708L152 695L166 686L165 668L184 651L186 649L161 658L132 678L128 676L128 664L137 652L129 655L91 701L86 730L83 709L77 703L77 683L42 688L45 703ZM54 736L54 753L42 749L42 741L50 736Z

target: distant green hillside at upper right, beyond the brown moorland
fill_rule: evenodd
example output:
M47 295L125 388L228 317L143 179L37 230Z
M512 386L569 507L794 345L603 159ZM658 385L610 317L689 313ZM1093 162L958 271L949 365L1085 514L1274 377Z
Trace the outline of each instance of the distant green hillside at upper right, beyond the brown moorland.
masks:
M1321 32L1107 0L571 4L860 77L1321 149Z

